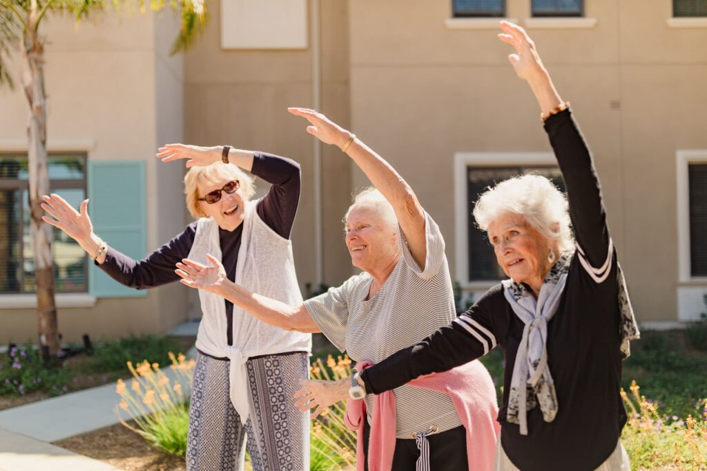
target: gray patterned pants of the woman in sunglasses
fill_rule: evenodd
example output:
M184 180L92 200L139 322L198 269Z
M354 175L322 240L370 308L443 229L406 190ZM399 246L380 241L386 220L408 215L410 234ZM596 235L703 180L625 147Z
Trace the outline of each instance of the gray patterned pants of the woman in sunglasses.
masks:
M187 470L243 470L245 436L254 471L308 470L309 417L293 405L308 378L308 354L248 359L250 417L245 427L228 395L229 362L199 354L189 402Z

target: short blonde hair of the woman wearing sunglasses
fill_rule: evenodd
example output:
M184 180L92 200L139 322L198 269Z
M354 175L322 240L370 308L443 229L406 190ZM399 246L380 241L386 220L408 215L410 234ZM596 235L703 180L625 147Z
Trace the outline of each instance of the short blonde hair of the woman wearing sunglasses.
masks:
M206 167L192 167L184 177L184 194L187 200L187 209L194 219L205 217L204 211L199 207L199 183L206 181L209 184L221 181L238 180L243 201L248 201L255 194L254 178L246 174L233 164L216 162Z

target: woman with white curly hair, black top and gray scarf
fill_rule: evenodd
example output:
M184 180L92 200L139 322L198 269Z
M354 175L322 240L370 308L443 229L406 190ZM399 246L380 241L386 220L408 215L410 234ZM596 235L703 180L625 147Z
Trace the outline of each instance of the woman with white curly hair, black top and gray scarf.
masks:
M380 394L500 345L506 371L497 470L629 471L619 441L621 359L638 329L599 181L534 43L517 25L502 29L501 40L515 48L510 62L542 110L568 201L537 175L483 193L474 217L509 279L450 326L363 371L359 386Z

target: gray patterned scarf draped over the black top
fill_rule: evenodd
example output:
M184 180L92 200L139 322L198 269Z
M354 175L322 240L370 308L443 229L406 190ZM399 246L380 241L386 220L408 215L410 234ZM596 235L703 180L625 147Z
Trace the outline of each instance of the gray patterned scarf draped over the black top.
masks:
M613 252L612 247L609 249ZM515 354L506 417L508 422L520 425L521 435L527 435L527 411L532 410L537 403L540 404L545 422L552 422L559 409L554 381L547 365L547 323L557 312L571 261L571 254L561 256L547 274L537 299L525 285L513 280L502 282L503 294L508 304L525 324L518 352ZM629 357L629 341L637 339L640 333L626 290L624 273L618 264L617 284L621 310L621 354Z

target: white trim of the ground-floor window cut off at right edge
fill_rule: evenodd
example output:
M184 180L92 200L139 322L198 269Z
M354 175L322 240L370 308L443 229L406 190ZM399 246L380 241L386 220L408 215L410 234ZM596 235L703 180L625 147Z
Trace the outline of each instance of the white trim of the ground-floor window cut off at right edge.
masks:
M678 150L677 162L677 253L680 283L703 282L707 277L690 275L690 208L688 166L691 163L707 163L707 149Z

